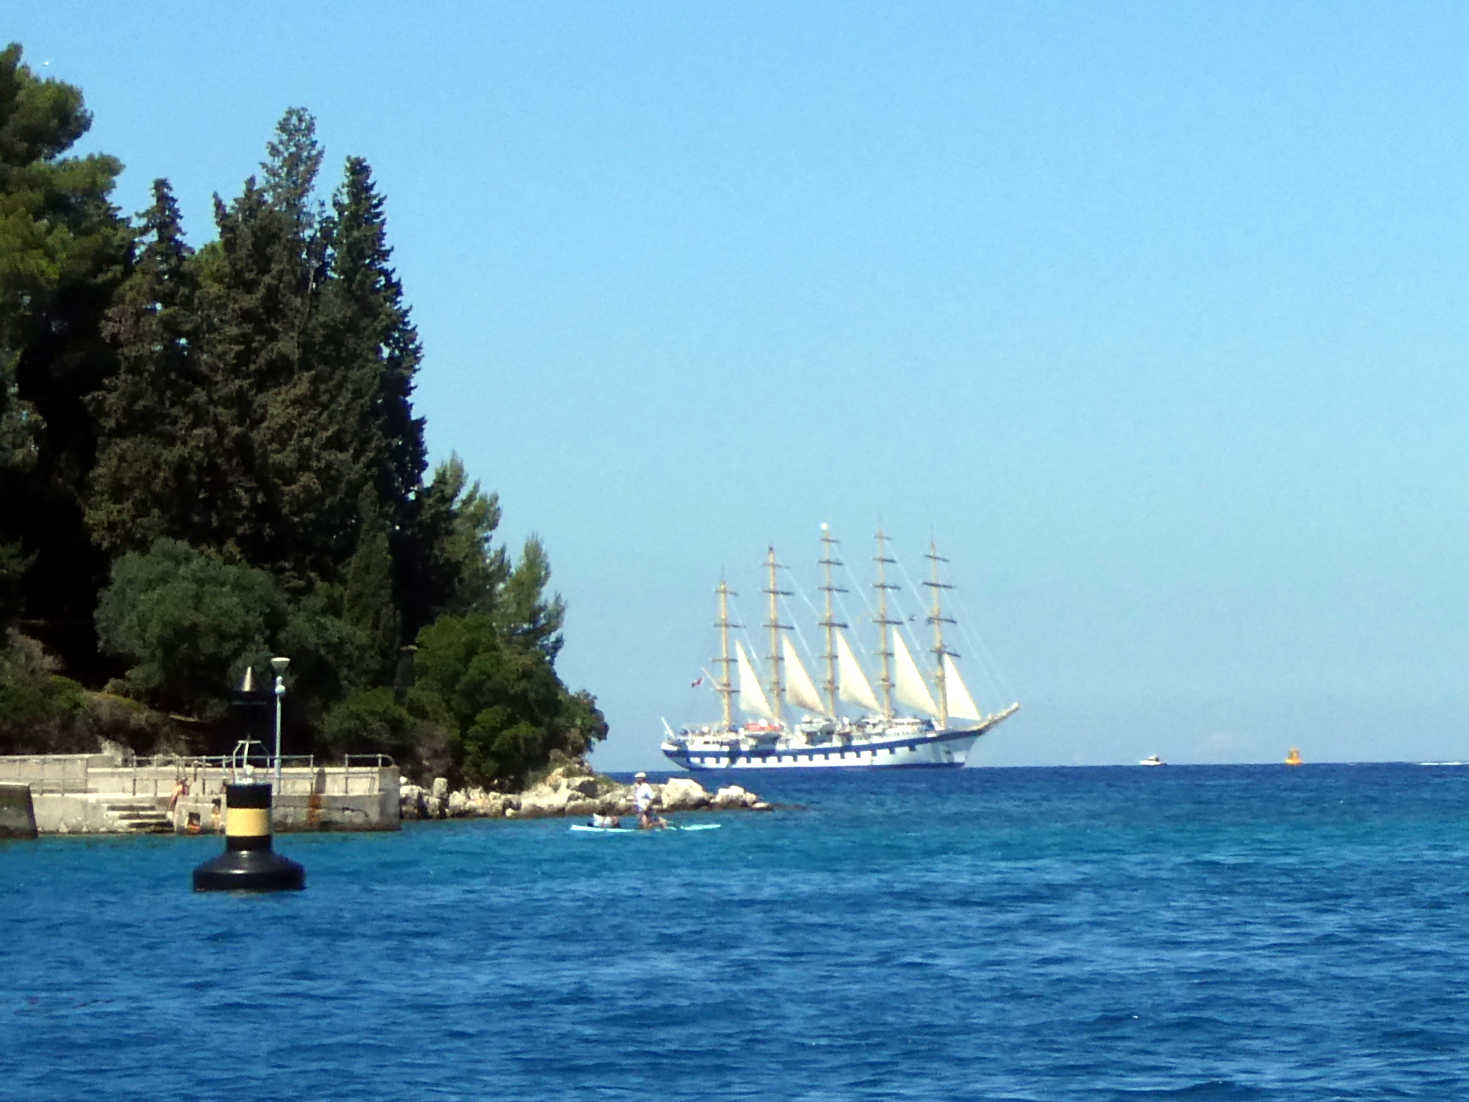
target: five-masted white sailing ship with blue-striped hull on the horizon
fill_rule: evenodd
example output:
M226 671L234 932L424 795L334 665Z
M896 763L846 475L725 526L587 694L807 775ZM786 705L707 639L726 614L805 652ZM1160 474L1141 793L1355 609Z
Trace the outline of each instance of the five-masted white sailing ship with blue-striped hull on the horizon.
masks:
M806 671L792 641L790 624L780 622L780 598L789 592L777 583L776 551L765 555L770 619L768 677L761 679L745 644L730 645L733 591L720 580L718 692L723 720L717 724L685 727L674 732L667 721L663 752L677 766L690 770L717 768L881 768L896 766L962 766L974 743L1002 720L1014 716L1019 704L984 714L970 695L955 658L959 654L945 642L945 624L953 620L942 607L939 577L943 561L928 544L930 591L927 623L933 629L933 664L928 679L920 671L912 651L903 641L902 620L890 614L889 594L898 586L887 579L896 560L887 554L887 538L877 533L877 614L880 644L874 652L880 676L874 686L848 642L848 624L836 619L833 595L845 589L833 585L831 569L836 539L821 526L821 567L824 616L818 626L826 639L821 655L826 676L821 689ZM737 702L736 702L737 701ZM856 705L858 714L845 714L842 704ZM899 711L902 705L906 711ZM754 719L734 720L736 707Z

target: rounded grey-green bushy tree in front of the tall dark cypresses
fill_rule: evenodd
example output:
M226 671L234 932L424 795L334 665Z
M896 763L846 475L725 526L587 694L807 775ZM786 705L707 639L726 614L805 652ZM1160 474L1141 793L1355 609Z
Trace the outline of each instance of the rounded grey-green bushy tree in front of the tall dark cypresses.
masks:
M125 657L129 691L217 717L245 661L272 652L286 607L270 575L178 541L116 561L97 605L103 647Z

